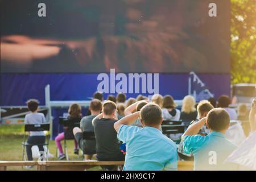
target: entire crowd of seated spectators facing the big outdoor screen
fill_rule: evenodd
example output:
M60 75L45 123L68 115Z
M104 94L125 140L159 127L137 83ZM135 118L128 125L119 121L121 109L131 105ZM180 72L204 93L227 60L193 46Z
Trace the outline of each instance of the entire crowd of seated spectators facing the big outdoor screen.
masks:
M182 159L194 160L195 170L236 169L233 164L224 163L229 154L236 149L233 143L225 139L225 131L229 127L230 119L238 118L241 121L250 119L251 130L256 129L256 101L251 105L250 114L246 105L240 105L237 117L236 111L228 107L230 99L225 95L218 98L218 106L223 109L214 109L216 107L214 98L200 101L196 109L195 98L185 96L181 112L176 109L174 99L170 95L162 97L160 94L155 94L151 101L139 95L136 102L135 98L126 101L126 95L119 93L117 97L109 95L102 105L103 99L102 93L94 93L87 113L90 115L81 119L80 128L75 127L65 131L73 130L76 139L75 154L79 151L78 143L83 150L85 160L92 159L94 154L100 161L125 159L123 170L176 170L177 151ZM44 115L37 113L38 101L30 100L27 106L31 113L26 115L25 123L46 122ZM69 118L80 119L81 107L72 104L68 113ZM175 143L162 134L163 120L182 120L188 127L178 150ZM94 132L96 141L83 140L83 131ZM55 138L60 160L65 158L60 143L63 139L64 133ZM27 142L44 143L45 135L43 132L31 132ZM126 146L126 155L121 152L121 142ZM38 147L40 151L44 150L43 146ZM28 160L32 160L30 146L27 146L27 156ZM212 160L209 160L210 156ZM114 166L104 168L116 169Z

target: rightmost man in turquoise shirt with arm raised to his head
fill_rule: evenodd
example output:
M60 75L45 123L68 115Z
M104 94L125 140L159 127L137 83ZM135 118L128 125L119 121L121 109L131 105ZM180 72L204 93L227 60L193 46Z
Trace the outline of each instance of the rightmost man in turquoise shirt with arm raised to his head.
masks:
M210 134L198 135L200 129L207 125ZM188 127L183 135L183 149L186 154L192 152L195 170L235 170L236 166L225 163L225 159L237 148L225 139L230 118L225 109L216 108L209 111L207 117Z

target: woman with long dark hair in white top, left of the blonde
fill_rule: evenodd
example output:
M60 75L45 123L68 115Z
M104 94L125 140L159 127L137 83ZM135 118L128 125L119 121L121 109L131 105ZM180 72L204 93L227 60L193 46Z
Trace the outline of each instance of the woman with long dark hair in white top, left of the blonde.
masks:
M168 121L179 121L180 119L180 110L176 109L176 104L174 103L174 98L167 95L163 97L163 109L162 117L163 120Z

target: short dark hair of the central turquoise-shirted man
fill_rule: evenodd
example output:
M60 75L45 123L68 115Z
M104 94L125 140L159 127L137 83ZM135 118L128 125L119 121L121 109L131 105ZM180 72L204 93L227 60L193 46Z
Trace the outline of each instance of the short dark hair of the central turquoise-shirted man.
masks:
M140 117L146 125L159 125L162 119L162 110L156 104L144 105Z

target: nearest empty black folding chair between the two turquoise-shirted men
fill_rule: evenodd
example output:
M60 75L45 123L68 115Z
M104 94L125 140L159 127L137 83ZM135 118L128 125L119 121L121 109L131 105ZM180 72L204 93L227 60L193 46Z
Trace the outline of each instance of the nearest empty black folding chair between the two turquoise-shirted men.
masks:
M183 134L185 131L185 125L162 125L163 134L170 138L172 134ZM181 138L174 140L174 142L179 143Z

